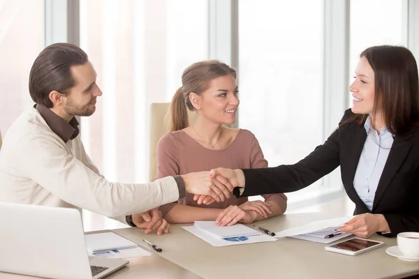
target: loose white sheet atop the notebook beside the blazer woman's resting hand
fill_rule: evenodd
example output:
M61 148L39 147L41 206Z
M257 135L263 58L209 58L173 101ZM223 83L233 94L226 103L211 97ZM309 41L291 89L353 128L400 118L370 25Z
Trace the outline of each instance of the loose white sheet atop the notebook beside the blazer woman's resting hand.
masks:
M316 220L302 226L291 227L283 231L276 232L275 237L296 236L297 234L307 234L327 227L341 227L344 223L351 220L353 216L345 216L332 219Z

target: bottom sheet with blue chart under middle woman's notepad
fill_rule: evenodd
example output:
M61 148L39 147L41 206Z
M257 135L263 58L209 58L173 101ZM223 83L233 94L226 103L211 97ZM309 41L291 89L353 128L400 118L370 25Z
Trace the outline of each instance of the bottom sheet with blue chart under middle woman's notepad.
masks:
M186 231L198 236L203 241L206 241L207 243L210 243L212 246L215 246L215 247L267 242L267 241L277 241L277 239L275 239L274 237L268 236L266 234L260 234L258 236L232 237L230 239L219 239L212 236L211 234L208 234L203 229L200 229L195 226L188 226L188 227L182 227L182 228L186 229Z

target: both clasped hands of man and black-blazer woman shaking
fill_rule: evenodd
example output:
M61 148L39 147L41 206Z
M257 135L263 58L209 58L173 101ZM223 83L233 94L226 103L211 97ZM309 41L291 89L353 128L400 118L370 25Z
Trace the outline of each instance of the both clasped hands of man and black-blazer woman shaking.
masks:
M198 204L223 202L232 195L233 188L244 187L241 169L212 169L210 172L193 172L182 175L186 192L195 194Z

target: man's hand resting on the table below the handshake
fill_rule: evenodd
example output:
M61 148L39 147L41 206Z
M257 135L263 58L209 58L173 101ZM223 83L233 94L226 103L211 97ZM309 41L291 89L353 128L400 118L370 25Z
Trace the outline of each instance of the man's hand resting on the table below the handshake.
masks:
M161 235L163 232L168 234L170 224L161 216L161 211L158 208L151 209L144 213L133 214L133 223L142 229L145 229L145 234L149 234L157 229L157 234Z

